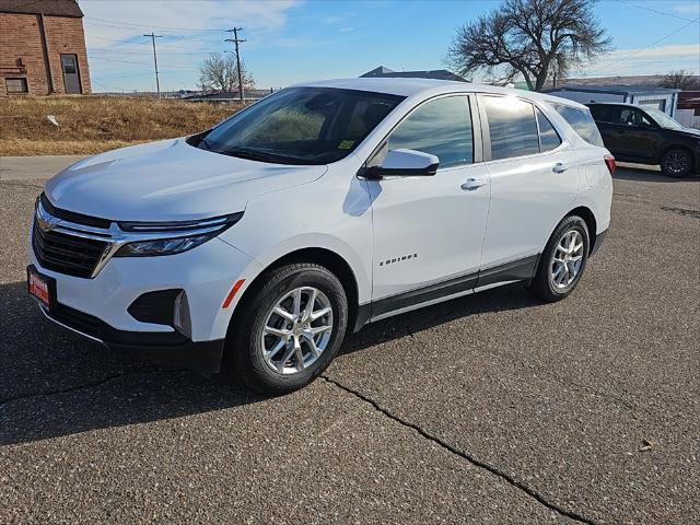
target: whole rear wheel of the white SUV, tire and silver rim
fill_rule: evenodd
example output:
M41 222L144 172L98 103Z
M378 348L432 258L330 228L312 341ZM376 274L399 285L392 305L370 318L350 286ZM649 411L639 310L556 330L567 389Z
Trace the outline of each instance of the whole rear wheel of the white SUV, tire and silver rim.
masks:
M570 248L572 238L575 240L575 249L571 254L565 254L562 250L562 244L563 247ZM578 247L580 244L583 246ZM568 296L576 288L586 268L590 246L588 228L585 221L578 215L565 217L555 229L539 258L537 272L528 287L530 292L548 303L561 301ZM564 260L564 262L556 262L555 257L558 261Z

